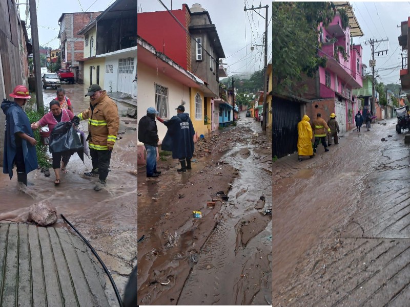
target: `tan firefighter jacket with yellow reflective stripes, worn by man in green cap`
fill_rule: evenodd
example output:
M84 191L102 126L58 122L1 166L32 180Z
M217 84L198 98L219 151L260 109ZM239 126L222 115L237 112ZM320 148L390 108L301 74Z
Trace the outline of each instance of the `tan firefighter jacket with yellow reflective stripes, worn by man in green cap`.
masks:
M103 91L101 96L94 101L90 100L91 106L77 116L80 120L88 119L88 131L90 134L89 147L96 150L107 150L113 147L117 140L119 129L118 107L115 102Z

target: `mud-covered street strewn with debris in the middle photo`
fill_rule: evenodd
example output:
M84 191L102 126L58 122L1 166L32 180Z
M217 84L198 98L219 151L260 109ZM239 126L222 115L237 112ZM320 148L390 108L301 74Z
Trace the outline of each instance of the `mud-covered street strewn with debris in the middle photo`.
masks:
M186 173L171 158L159 178L140 168L139 304L272 302L272 145L243 118L196 143Z

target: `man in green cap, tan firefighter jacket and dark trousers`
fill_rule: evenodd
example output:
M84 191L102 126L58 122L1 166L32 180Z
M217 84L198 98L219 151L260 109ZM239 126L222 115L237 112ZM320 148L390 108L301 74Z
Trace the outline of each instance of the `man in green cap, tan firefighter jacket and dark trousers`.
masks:
M87 176L98 174L95 191L103 189L107 182L111 154L119 128L118 107L98 84L88 87L85 95L90 97L90 106L78 114L80 120L88 119L88 137L93 169Z

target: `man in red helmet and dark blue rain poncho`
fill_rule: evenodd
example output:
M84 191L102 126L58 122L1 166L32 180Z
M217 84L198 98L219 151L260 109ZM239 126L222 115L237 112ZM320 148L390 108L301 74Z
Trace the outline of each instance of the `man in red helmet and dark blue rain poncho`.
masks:
M4 99L3 113L6 115L4 131L3 173L13 177L13 167L16 165L17 181L27 186L27 174L36 169L37 154L33 129L29 118L23 110L27 99L31 98L29 90L24 85L14 87L9 95L14 101Z

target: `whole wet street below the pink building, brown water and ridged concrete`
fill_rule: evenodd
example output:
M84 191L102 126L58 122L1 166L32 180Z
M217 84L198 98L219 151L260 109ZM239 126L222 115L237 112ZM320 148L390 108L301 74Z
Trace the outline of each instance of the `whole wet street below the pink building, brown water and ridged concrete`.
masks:
M274 163L273 305L407 304L410 158L395 124Z

